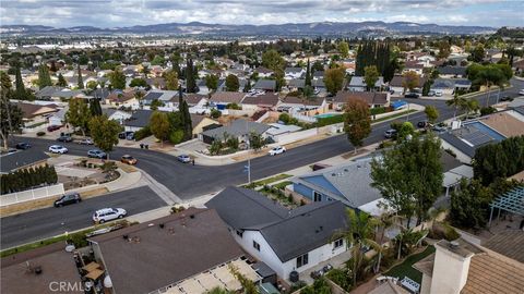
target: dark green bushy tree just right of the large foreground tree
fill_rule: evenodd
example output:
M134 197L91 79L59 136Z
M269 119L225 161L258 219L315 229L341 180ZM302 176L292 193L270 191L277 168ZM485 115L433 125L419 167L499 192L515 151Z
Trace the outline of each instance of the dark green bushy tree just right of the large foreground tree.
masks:
M493 195L480 181L472 180L469 183L462 179L460 187L451 194L450 218L453 224L480 229L486 226L489 204Z

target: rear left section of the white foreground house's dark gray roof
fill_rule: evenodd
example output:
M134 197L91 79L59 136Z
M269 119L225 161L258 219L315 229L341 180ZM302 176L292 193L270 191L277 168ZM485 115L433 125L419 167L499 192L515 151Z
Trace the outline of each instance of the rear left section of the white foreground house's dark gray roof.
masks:
M242 187L226 187L206 207L216 209L221 218L237 230L283 220L288 210L258 192Z

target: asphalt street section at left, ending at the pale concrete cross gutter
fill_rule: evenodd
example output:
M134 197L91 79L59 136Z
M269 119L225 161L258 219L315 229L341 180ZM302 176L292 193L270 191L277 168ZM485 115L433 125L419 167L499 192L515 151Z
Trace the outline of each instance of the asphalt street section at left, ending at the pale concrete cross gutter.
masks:
M165 205L150 187L143 186L85 199L80 204L7 217L0 221L0 245L9 248L90 226L93 224L91 217L100 208L123 208L131 216Z

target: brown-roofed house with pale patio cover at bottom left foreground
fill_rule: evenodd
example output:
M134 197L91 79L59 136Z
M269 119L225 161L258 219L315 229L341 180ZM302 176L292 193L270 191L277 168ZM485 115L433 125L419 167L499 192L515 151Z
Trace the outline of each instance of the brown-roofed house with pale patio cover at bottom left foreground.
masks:
M114 294L237 292L242 286L230 267L260 280L213 209L189 208L88 241Z

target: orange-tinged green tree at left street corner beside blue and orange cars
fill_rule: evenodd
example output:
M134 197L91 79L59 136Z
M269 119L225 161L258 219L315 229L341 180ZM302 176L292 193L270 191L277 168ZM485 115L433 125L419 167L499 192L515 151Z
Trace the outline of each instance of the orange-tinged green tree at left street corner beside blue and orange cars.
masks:
M118 134L122 126L117 121L109 120L106 114L93 117L88 125L93 142L109 159L109 151L118 144Z

